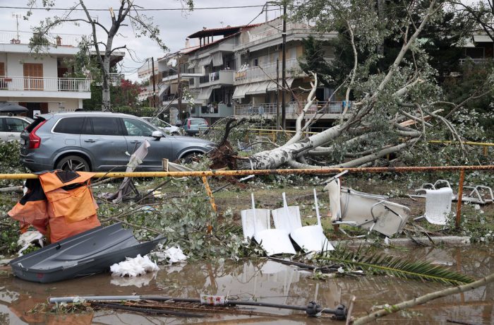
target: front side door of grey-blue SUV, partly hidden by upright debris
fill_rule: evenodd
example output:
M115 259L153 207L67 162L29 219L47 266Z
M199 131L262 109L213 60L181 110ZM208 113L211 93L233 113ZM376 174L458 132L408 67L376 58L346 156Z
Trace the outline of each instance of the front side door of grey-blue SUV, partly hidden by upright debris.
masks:
M159 131L157 128L140 119L133 119L131 117L123 117L121 121L123 123L123 131L126 134L127 150L129 153L133 153L145 140L151 145L147 148L147 155L140 169L162 170L163 158L169 160L176 159L173 145L167 136L162 136L161 138L151 136L153 131Z

